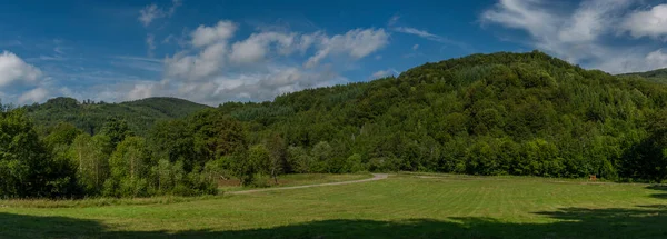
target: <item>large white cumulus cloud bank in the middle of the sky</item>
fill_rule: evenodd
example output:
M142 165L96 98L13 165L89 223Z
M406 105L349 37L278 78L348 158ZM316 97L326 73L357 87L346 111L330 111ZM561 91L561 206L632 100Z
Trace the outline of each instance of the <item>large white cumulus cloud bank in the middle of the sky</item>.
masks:
M198 27L189 34L189 48L166 58L162 81L138 84L128 98L171 93L209 104L270 100L286 92L348 82L335 66L319 62L335 56L357 60L388 43L384 29L355 29L331 37L320 31L259 30L232 41L237 30L231 21ZM300 57L307 59L305 63L296 60Z

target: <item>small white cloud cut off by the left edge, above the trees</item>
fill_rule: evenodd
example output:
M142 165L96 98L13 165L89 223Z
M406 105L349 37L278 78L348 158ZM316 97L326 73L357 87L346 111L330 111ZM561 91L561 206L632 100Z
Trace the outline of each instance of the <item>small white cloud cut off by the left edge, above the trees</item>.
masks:
M17 81L36 83L42 72L9 51L0 54L0 88Z

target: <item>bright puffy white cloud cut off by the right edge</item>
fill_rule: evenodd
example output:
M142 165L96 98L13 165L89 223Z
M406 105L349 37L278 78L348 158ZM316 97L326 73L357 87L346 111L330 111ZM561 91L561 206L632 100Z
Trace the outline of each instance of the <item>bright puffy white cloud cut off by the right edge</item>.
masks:
M667 36L667 4L653 7L648 11L636 11L623 22L621 31L630 32L635 38Z

